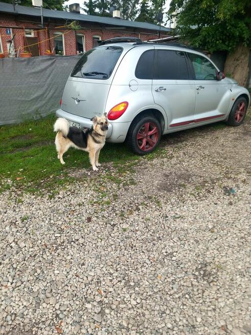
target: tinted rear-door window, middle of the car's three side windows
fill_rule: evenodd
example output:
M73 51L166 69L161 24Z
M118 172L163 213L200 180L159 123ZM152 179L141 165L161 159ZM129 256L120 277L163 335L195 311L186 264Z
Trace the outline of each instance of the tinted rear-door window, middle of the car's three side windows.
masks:
M154 79L189 79L185 53L177 50L156 50Z

